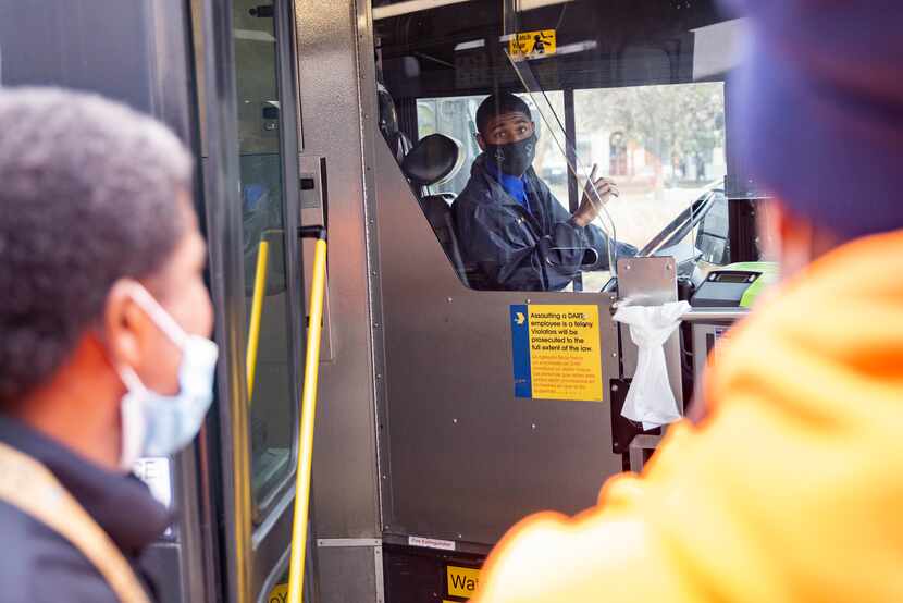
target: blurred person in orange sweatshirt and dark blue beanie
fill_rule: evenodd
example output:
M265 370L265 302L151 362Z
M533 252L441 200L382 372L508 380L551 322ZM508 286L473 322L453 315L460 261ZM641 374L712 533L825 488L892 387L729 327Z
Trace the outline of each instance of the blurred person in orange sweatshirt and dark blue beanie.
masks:
M596 507L515 527L474 603L903 601L903 4L742 9L741 143L784 279L695 420Z

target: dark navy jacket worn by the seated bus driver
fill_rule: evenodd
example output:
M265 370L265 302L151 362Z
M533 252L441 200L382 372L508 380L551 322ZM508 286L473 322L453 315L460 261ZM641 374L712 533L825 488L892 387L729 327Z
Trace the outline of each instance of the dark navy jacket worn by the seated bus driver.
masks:
M465 263L483 276L482 288L559 291L581 270L608 268L608 237L594 225L578 226L533 168L524 174L530 211L516 201L483 165L473 162L467 186L453 211ZM587 248L598 255L583 263ZM630 245L613 246L614 256L633 256Z

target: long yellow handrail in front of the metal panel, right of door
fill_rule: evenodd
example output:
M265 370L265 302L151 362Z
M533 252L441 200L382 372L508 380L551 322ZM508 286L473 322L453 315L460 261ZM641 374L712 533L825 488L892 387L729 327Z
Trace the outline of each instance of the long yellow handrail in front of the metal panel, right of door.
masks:
M317 241L310 284L310 318L307 330L305 384L301 392L300 450L295 487L295 520L292 527L292 562L288 567L288 603L301 603L310 508L310 468L313 457L313 419L317 414L317 379L320 374L320 334L326 285L326 242Z

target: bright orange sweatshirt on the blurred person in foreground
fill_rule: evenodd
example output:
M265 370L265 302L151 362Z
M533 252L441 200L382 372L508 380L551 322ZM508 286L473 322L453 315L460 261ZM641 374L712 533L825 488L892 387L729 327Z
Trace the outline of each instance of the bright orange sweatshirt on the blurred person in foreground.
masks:
M901 258L863 238L784 285L717 349L706 418L515 527L473 602L903 601Z

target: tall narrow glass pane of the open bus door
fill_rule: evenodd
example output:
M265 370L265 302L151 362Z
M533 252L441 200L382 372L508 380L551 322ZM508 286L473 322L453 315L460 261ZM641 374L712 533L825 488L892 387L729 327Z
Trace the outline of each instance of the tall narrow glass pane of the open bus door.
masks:
M271 11L261 10L265 8L260 0L233 2L248 319L245 341L251 349L247 357L251 491L261 506L292 472L296 424L276 38ZM258 312L253 311L256 303Z

